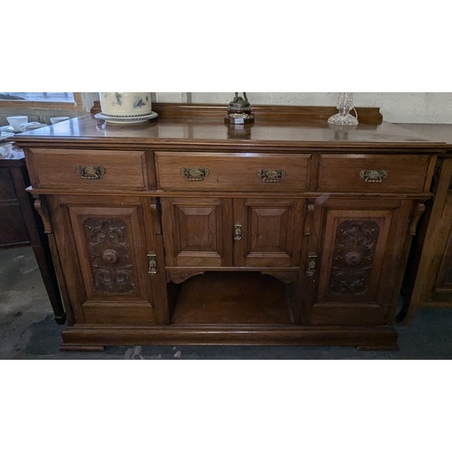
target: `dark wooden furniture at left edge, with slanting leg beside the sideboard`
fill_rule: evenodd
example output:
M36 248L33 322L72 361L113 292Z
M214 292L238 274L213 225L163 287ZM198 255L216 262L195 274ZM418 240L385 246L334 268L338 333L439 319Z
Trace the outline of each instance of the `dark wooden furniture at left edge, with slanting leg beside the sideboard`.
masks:
M0 249L33 248L55 321L62 325L66 322L66 315L47 235L41 218L33 209L31 196L25 192L30 179L24 152L10 143L0 143L0 147Z

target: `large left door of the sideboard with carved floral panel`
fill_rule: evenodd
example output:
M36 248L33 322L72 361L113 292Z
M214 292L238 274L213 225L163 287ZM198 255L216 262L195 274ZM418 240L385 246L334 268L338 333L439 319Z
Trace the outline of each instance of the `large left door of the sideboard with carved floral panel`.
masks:
M75 323L168 321L149 199L58 196L51 215Z

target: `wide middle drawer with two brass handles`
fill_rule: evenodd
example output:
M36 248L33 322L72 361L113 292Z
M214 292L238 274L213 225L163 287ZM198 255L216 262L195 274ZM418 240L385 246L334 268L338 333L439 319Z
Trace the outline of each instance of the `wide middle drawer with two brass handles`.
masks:
M155 152L164 191L303 192L311 155Z

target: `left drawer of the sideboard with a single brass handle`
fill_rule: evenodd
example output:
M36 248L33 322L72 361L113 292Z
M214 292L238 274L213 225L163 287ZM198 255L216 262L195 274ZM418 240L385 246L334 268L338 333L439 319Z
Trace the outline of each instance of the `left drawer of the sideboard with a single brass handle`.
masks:
M144 151L32 149L32 184L39 188L146 190Z

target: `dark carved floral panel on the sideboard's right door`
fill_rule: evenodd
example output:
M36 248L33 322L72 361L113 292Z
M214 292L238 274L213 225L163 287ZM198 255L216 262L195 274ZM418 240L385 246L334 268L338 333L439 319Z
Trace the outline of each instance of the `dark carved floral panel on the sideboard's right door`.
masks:
M380 228L375 221L343 221L336 231L329 290L362 295L369 288Z

